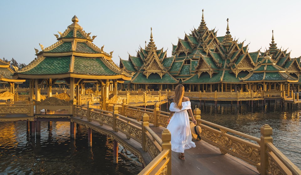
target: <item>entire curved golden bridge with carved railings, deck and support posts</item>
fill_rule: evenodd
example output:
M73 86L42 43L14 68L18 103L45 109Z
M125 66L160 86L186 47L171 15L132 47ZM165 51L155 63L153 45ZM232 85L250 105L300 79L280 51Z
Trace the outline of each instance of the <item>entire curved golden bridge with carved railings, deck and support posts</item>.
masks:
M0 117L0 121L27 120L31 136L34 133L40 136L40 121L55 120L71 122L71 138L76 137L75 123L87 126L89 146L92 146L92 130L106 134L115 140L114 162L118 163L120 143L145 165L139 174L301 174L272 144L270 126L262 126L261 138L256 138L202 120L198 108L194 110L194 117L202 128L202 140L195 141L196 148L185 151L185 161L178 158L178 153L171 152L170 133L165 128L169 113L160 111L159 104L155 104L154 109L114 104L104 111L50 97L29 104L2 104L0 109L10 114ZM41 109L45 113L41 113ZM53 111L47 112L47 109Z

